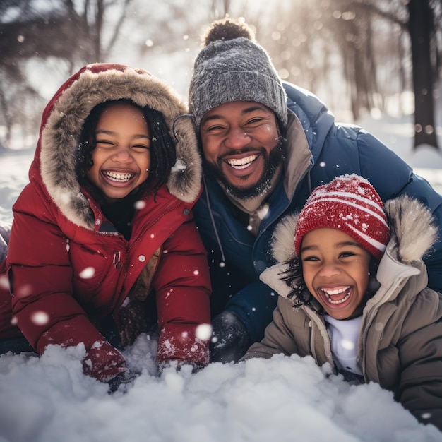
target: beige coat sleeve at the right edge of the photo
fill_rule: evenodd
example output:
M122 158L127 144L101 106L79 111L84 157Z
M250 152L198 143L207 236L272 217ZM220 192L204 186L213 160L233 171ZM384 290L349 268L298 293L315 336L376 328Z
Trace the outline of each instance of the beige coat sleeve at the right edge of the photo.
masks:
M398 400L420 422L442 430L442 296L424 290L402 326L398 342ZM423 307L422 307L423 306Z

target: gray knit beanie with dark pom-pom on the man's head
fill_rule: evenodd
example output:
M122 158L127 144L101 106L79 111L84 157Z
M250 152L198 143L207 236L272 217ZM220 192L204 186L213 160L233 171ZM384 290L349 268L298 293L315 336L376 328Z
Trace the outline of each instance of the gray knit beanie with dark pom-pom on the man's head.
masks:
M248 32L249 31L249 32ZM248 25L216 20L193 67L189 109L199 129L210 109L232 101L264 104L287 126L287 97L268 53Z

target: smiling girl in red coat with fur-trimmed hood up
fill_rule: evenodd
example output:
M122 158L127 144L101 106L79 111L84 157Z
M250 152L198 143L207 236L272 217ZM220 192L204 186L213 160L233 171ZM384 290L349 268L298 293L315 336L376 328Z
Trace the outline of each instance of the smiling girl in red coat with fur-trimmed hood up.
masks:
M201 160L185 112L165 83L117 64L85 66L56 92L13 207L2 350L23 335L40 354L81 342L85 374L108 382L127 371L116 347L157 321L160 366L208 363L197 329L210 280L191 213Z

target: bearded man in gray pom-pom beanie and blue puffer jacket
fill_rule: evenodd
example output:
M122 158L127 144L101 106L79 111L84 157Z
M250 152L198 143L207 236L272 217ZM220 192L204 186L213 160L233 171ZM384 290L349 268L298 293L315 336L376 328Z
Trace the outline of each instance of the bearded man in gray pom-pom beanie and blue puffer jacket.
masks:
M246 24L212 23L195 61L189 109L204 160L194 214L213 286L213 362L237 361L263 338L277 294L258 276L275 263L273 229L317 186L362 175L383 201L419 198L441 231L442 197L374 136L336 124L317 97L283 84ZM425 262L429 287L442 291L440 241Z

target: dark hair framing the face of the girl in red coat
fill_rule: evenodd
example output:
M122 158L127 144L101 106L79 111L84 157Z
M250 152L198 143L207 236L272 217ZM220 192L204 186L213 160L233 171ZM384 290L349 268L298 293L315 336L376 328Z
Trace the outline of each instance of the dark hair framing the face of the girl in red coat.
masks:
M147 189L153 189L154 193L167 182L172 166L177 160L175 143L170 136L169 128L161 112L150 109L150 107L140 107L129 99L110 100L97 104L88 117L85 119L78 141L76 151L76 176L80 186L83 186L100 205L102 196L97 192L95 186L88 179L88 171L93 165L92 150L95 149L95 129L98 120L104 109L110 104L123 103L131 104L143 112L145 121L148 124L150 133L150 173L148 179L138 186L137 194L143 193Z

